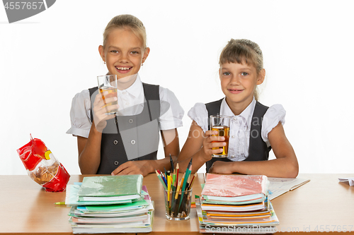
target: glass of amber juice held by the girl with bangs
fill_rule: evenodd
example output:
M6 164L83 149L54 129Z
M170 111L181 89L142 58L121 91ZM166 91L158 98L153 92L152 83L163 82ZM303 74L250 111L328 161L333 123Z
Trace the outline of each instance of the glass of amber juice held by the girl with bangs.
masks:
M227 157L227 150L229 150L230 117L224 115L210 116L210 130L218 132L214 136L224 136L225 140L223 142L226 142L225 146L212 148L213 150L218 148L222 148L223 150L218 154L213 154L212 157Z

